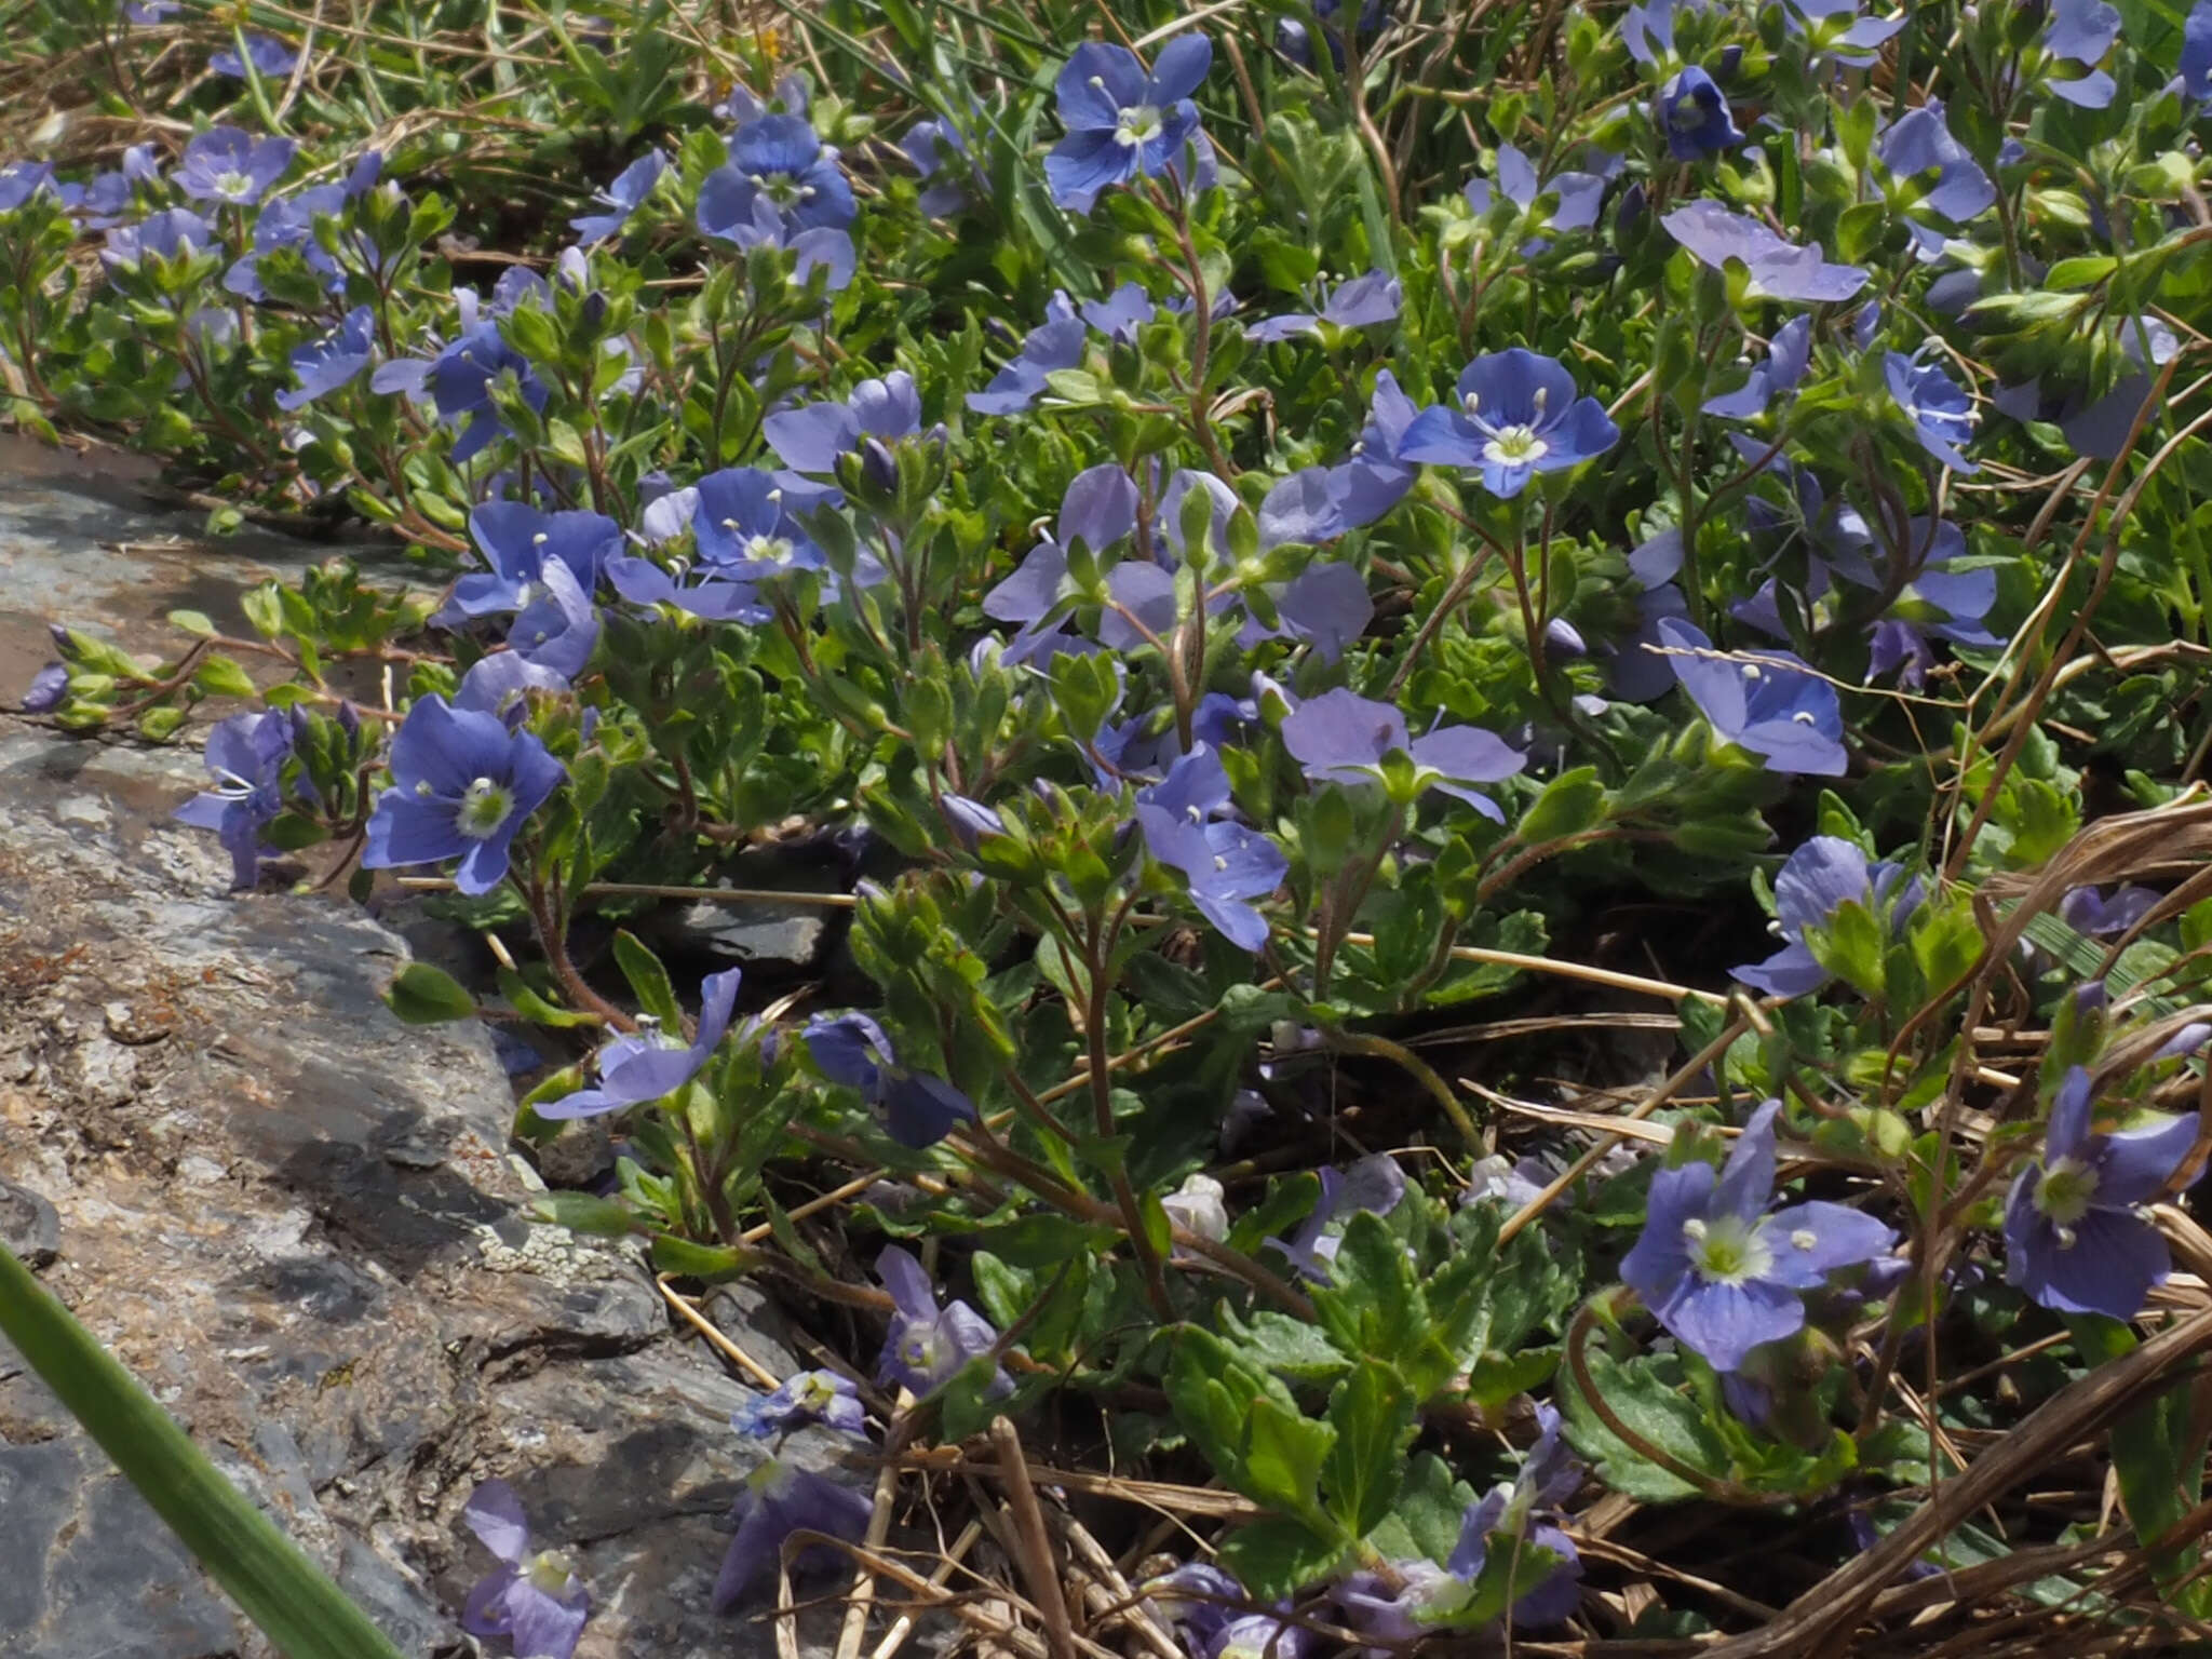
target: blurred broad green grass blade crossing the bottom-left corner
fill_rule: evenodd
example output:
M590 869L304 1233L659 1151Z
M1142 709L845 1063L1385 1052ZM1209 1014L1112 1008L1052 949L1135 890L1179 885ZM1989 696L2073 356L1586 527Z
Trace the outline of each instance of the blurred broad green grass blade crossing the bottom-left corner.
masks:
M223 1480L137 1378L4 1245L0 1334L290 1659L400 1659L345 1590Z

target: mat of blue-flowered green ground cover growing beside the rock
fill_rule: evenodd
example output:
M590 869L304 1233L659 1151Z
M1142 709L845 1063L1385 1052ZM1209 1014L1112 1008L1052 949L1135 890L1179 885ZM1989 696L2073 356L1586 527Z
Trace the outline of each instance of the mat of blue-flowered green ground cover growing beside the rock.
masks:
M714 1606L1051 1425L1155 1652L2212 1617L2212 4L354 11L35 9L175 115L13 133L0 372L420 575L22 708L221 714L241 889L502 938L392 1006L544 1219L814 1321ZM794 832L845 991L641 942Z

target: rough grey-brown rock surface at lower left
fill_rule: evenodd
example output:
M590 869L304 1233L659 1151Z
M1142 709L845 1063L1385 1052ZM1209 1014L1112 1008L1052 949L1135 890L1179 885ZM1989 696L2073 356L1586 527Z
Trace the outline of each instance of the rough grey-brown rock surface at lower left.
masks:
M88 507L40 515L0 511L0 568L49 538L104 571ZM117 584L71 619L119 626ZM405 1652L471 1652L453 1610L491 1559L458 1513L502 1475L593 1586L580 1655L768 1655L768 1621L706 1606L761 1455L726 1427L748 1387L635 1252L524 1217L487 1031L378 1002L398 936L226 894L215 838L168 823L199 779L190 745L0 717L0 1237ZM268 1652L4 1343L0 1562L15 1659Z

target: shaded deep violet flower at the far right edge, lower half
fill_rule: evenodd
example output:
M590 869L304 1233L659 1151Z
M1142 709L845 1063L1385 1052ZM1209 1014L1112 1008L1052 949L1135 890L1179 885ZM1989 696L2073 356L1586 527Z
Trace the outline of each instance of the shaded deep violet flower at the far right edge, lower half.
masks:
M2090 1077L2068 1066L2044 1155L2004 1201L2004 1281L2059 1314L2130 1321L2172 1267L2143 1214L2197 1146L2197 1113L2090 1133Z

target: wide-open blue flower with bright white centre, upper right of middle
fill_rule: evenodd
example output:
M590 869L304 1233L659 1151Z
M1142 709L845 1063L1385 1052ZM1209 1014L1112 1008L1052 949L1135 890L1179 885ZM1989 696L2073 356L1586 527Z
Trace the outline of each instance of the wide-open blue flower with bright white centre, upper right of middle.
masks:
M1557 361L1520 345L1469 363L1458 394L1460 409L1436 405L1413 416L1398 456L1480 471L1491 495L1520 495L1535 473L1579 467L1621 438L1597 398L1575 396Z

